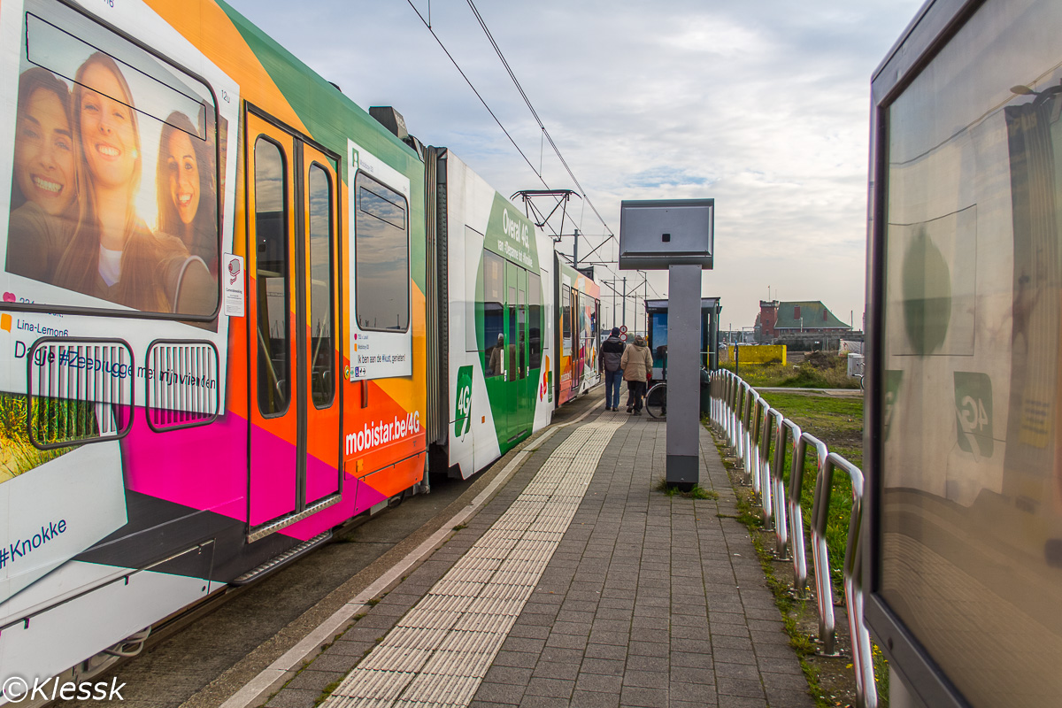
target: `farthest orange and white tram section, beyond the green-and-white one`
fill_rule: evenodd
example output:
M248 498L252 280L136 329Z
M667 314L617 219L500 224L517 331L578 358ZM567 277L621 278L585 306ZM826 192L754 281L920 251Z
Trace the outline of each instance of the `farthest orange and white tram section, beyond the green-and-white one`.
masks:
M560 312L556 328L556 404L563 405L601 382L598 366L598 315L601 287L586 274L554 258L554 297Z

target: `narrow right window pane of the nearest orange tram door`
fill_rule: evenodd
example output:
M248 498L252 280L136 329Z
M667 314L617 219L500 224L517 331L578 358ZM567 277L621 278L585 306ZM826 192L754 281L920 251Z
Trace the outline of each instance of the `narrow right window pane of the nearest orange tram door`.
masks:
M327 408L336 394L332 336L336 315L332 303L331 179L320 165L310 166L310 385L313 404Z

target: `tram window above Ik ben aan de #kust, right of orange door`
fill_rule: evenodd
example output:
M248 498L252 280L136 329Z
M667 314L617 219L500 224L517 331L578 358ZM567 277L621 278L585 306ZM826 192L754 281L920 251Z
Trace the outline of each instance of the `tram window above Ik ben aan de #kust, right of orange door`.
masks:
M359 173L355 221L355 292L358 327L405 332L409 329L409 238L406 200Z

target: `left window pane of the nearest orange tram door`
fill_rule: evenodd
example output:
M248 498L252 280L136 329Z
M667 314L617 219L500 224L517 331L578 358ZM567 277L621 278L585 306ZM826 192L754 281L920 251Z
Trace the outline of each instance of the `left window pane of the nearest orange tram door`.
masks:
M288 326L288 185L280 149L255 142L255 280L258 286L258 410L278 415L291 399Z

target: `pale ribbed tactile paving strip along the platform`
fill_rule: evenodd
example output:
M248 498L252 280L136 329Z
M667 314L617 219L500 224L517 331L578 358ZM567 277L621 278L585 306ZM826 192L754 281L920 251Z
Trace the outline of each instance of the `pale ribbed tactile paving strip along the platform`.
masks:
M326 708L464 708L626 422L577 428L524 493L362 661Z

